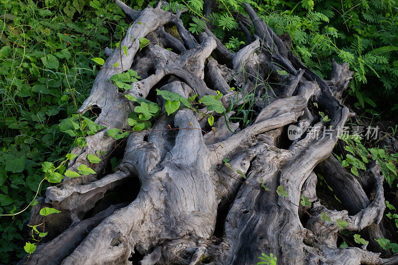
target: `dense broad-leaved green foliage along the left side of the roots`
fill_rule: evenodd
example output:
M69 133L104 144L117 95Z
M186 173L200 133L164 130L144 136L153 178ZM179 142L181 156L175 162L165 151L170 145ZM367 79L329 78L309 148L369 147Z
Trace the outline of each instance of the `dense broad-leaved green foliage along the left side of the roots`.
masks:
M37 190L44 195L48 182L39 183L46 175L59 182L59 159L73 144L85 145L82 131L100 128L89 113L80 116L84 124L77 116L57 124L77 113L100 69L91 59L104 58L110 36L127 24L112 0L2 0L0 10L0 214L9 214L29 205ZM64 125L71 131L60 131ZM57 166L42 172L43 161ZM0 217L4 264L34 251L31 243L20 245L29 210Z

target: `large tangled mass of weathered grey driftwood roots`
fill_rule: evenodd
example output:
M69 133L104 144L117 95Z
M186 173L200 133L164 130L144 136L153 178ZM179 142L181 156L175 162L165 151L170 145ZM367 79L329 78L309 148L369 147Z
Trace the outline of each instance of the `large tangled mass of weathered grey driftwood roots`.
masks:
M358 180L343 169L330 168L336 164L332 158L321 163L331 155L338 130L354 115L341 103L341 94L353 74L346 64L333 61L331 77L323 81L290 52L291 41L279 38L248 4L245 7L256 35L250 36L241 23L252 42L231 53L210 30L194 37L184 28L181 11L165 11L160 3L156 8L136 11L119 0L116 3L134 20L120 45L127 47L127 56L106 49L109 57L80 108L82 113L100 108L96 122L107 128L88 136L86 147L75 148L73 153L79 156L69 164L73 171L86 164L98 174L66 177L64 180L69 181L47 189L43 200L33 207L30 225L41 223L38 212L42 207L62 212L45 217L44 229L53 239L39 245L27 264L139 261L145 265L250 265L259 261L261 253L274 254L278 264L398 262L397 257L382 259L380 253L337 246L337 233L342 230L337 219L348 223L345 229L367 229L372 236L380 235L377 224L385 209L383 176L377 164L368 174L374 192L370 200ZM208 15L209 8L206 12ZM177 28L177 35L165 30L170 25ZM140 37L155 44L138 52ZM123 69L112 67L116 62ZM154 88L178 92L186 98L195 93L198 98L215 95L219 90L224 94L221 101L228 107L231 97L239 104L237 99L243 96L229 91L231 83L244 87L258 98L257 117L244 129L230 122L229 128L234 131L230 132L221 116L216 118L213 134L206 127L206 118L182 108L176 114L161 115L152 130L131 133L124 150L113 150L115 140L106 130L130 129L127 117L134 102L108 79L127 69L142 77L125 91L136 97L146 98ZM289 75L280 75L278 70ZM163 98L157 101L164 110ZM330 121L322 121L314 102L328 113ZM311 129L290 141L284 131L289 124L296 124L302 131ZM167 125L179 129L168 130ZM120 141L118 144L123 145ZM120 165L109 172L109 156L91 164L87 155L98 150L122 152ZM223 158L247 178L232 174L221 162ZM339 183L348 183L338 194L352 200L346 202L348 211L327 209L317 198L313 171L319 163L317 171L323 172L336 190ZM261 181L270 191L262 188ZM276 195L280 185L289 197ZM123 192L133 194L127 204L107 209L109 205L99 206L106 204L107 193L121 187ZM136 194L135 189L139 190ZM305 209L310 214L308 219L300 219L301 214L307 216L298 208L301 195L312 202ZM321 221L322 212L331 222Z

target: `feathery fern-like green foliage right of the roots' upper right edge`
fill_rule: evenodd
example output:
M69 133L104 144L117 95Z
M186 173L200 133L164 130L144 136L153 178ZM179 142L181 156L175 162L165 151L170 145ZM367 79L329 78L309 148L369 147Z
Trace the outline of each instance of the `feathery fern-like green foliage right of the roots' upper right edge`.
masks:
M398 93L397 8L394 0L302 0L299 5L266 0L259 13L276 34L290 34L292 51L321 77L330 72L331 58L348 63L354 71L349 94L357 98L356 107L393 113L398 104L386 96Z

